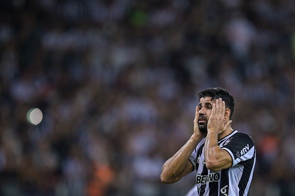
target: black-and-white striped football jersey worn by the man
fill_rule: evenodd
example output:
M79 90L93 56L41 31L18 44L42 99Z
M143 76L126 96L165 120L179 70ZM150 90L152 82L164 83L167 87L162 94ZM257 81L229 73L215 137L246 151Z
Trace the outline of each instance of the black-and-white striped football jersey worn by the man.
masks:
M211 172L206 167L204 144L198 144L189 160L197 171L195 196L247 196L256 161L253 139L236 130L218 141L232 159L230 168Z

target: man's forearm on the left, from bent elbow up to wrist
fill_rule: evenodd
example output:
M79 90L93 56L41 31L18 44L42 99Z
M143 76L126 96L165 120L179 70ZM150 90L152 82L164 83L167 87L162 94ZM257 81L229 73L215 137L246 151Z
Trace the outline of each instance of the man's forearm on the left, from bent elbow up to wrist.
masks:
M200 140L200 136L193 134L180 150L164 163L161 173L162 182L167 184L177 182L190 172L185 170L186 164Z

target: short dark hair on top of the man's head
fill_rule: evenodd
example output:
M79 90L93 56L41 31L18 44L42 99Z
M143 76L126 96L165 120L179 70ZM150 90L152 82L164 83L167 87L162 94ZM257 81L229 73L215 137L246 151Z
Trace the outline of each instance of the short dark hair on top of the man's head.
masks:
M202 90L198 94L199 101L203 97L211 97L212 101L215 101L218 98L221 98L225 102L225 108L230 110L229 120L232 119L232 114L234 110L234 100L232 95L228 92L228 90L216 87L216 88L207 88Z

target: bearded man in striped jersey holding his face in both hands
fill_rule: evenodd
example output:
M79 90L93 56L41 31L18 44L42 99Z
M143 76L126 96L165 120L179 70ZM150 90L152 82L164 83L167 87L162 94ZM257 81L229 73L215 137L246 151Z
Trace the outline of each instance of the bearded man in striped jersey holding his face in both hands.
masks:
M196 196L247 196L256 152L249 135L231 129L234 99L222 88L198 97L194 133L164 163L161 181L172 184L196 170Z

